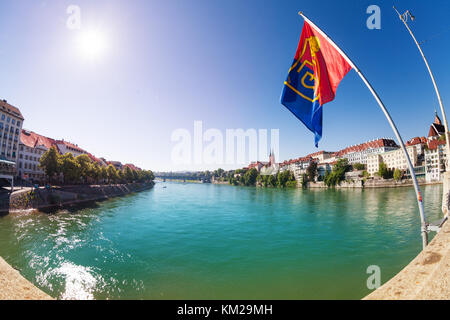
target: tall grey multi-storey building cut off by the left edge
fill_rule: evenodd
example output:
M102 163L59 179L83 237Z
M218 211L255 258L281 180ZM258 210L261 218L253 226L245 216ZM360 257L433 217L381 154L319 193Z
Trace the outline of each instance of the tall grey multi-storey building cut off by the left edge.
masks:
M6 100L0 100L0 157L17 163L23 116Z

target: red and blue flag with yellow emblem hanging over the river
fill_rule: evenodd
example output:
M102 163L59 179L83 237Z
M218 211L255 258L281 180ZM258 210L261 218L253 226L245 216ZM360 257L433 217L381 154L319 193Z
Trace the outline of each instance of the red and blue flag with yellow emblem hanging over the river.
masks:
M334 100L339 83L351 69L335 47L305 21L281 104L314 133L316 147L322 138L322 107Z

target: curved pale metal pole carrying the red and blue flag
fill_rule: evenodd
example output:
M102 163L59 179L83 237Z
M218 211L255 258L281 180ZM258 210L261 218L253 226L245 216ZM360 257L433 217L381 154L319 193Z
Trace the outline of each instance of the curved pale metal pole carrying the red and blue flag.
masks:
M417 182L416 173L414 172L414 167L411 163L411 159L409 158L408 151L406 150L405 144L403 143L403 139L400 136L400 133L397 130L397 127L392 120L391 115L389 114L388 110L384 106L383 102L381 101L378 94L373 89L370 82L366 79L366 77L363 75L363 73L359 70L359 68L353 63L353 61L342 51L341 48L339 48L336 43L334 43L333 40L325 33L323 32L318 26L316 26L311 20L309 20L302 12L298 13L303 19L305 19L306 22L308 22L309 25L311 25L317 32L319 32L322 37L328 40L328 42L342 55L342 57L350 64L350 66L355 69L356 73L360 76L364 84L367 86L369 91L372 93L373 97L377 101L378 105L380 106L381 110L383 111L384 115L386 116L386 119L388 120L392 130L394 131L394 134L397 138L397 141L399 142L403 153L406 157L406 162L408 164L409 172L411 173L411 178L413 180L414 184L414 190L416 192L416 198L417 198L417 205L419 207L419 213L420 213L420 221L421 221L421 235L422 235L422 246L425 248L428 245L428 233L427 233L427 223L425 220L425 212L423 209L423 202L422 202L422 195L420 193L419 183Z

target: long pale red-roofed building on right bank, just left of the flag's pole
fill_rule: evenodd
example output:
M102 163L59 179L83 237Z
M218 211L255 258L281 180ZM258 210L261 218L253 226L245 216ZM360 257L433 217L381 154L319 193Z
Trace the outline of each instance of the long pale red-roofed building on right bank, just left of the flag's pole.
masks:
M336 158L346 158L349 164L362 163L367 165L367 157L398 149L399 146L392 139L377 139L347 147L336 152Z

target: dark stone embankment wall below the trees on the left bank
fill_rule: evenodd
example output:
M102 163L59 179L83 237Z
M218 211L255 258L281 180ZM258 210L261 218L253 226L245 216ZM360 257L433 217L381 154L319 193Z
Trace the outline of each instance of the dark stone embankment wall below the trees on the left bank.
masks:
M16 191L1 199L0 215L30 210L55 210L67 206L103 201L151 189L154 182L117 185L77 185L52 187L50 190Z

